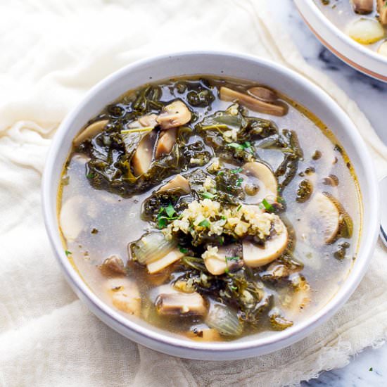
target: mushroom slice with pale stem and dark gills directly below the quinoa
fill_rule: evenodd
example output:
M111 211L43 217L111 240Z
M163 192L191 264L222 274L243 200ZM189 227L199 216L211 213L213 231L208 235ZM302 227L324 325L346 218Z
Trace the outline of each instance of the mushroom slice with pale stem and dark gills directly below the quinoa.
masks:
M242 262L239 259L235 259L237 257L236 250L238 250L236 245L220 246L215 248L213 253L210 253L211 249L213 248L205 251L202 257L205 267L213 275L224 274L227 270L238 267Z

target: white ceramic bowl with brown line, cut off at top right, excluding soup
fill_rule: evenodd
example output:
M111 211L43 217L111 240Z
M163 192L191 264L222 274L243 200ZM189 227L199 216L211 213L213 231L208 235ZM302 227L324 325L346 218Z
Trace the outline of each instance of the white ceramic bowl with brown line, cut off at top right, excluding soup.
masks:
M348 37L326 18L313 0L294 0L298 11L327 49L364 74L387 82L387 58Z

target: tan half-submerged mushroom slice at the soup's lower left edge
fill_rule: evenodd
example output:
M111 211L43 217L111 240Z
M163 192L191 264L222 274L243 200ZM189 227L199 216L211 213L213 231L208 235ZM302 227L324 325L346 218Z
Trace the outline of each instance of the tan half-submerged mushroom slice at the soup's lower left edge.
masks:
M141 298L134 280L126 277L112 278L106 281L106 291L117 309L129 315L139 316Z

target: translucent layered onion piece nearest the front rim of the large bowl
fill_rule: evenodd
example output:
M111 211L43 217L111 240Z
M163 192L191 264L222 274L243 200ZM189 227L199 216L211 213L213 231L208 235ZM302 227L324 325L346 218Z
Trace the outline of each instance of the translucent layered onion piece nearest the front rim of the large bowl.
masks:
M208 312L205 324L216 329L223 336L239 336L243 326L234 310L222 304L216 304Z

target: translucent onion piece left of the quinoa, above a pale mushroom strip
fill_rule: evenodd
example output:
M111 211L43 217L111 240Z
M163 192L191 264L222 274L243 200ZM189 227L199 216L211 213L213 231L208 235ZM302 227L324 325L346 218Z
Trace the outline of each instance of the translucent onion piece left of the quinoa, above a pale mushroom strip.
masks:
M175 241L167 241L161 232L149 232L144 234L138 241L129 243L129 255L141 265L165 257L177 246Z

